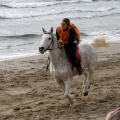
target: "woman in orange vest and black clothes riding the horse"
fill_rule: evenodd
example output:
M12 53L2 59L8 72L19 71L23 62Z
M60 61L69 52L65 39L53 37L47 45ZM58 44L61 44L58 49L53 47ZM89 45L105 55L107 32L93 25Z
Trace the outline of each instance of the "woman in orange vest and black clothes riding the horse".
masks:
M80 64L80 60L76 58L76 32L70 26L70 20L64 18L60 26L56 29L56 37L58 40L58 47L61 48L64 45L66 54L72 64L77 68L79 75L83 73L83 69Z

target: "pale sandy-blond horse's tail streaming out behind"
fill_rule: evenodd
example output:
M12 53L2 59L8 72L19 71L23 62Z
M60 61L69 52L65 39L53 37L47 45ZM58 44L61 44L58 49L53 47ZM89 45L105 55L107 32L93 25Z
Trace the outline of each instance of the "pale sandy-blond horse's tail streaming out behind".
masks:
M90 44L94 47L108 47L110 42L106 42L105 38L96 38Z

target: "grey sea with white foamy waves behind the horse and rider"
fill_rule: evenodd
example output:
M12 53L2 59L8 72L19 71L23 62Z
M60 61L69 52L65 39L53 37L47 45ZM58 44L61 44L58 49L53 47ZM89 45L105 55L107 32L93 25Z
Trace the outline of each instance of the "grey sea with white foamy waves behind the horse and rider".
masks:
M42 28L66 17L84 42L120 42L120 0L0 0L0 61L40 54Z

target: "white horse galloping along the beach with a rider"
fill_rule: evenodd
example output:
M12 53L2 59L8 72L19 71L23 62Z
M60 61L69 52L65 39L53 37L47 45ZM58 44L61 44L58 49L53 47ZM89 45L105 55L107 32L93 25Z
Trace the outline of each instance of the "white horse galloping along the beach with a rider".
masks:
M99 46L104 46L97 42ZM94 46L97 46L94 42ZM83 93L85 96L88 95L88 89L90 88L90 82L93 79L94 65L97 62L98 55L93 45L81 43L78 45L79 54L81 55L81 66L84 70L85 79L83 81ZM76 68L71 69L71 64L68 62L64 48L58 48L58 41L56 36L53 34L53 28L50 30L43 29L43 36L41 38L39 52L44 53L49 50L50 55L50 72L56 79L59 86L63 89L64 95L69 99L70 104L77 97L76 94L70 93L71 81L73 76L78 74Z

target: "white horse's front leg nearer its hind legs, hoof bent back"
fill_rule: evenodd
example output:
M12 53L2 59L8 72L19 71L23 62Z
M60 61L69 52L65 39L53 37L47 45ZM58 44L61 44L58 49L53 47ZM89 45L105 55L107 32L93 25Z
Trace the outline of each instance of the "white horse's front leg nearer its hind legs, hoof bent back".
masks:
M65 81L65 97L69 99L70 104L73 104L73 100L78 96L77 94L70 94L70 87L71 87L71 78L67 78Z

